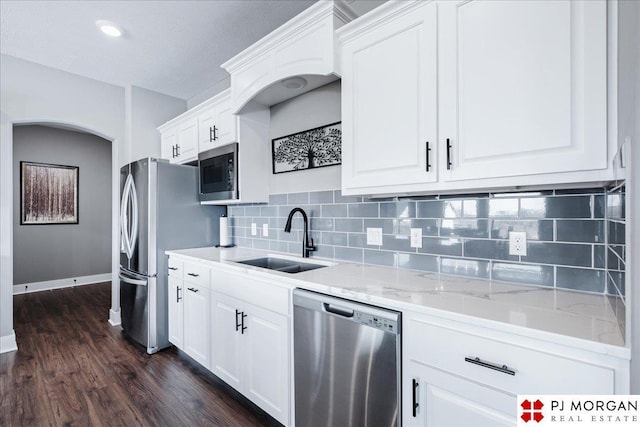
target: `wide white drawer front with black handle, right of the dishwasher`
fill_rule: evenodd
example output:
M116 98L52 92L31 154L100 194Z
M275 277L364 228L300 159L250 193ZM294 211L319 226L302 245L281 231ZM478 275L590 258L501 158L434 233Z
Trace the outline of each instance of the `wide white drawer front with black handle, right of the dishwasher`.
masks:
M615 373L610 368L422 319L409 318L405 330L410 360L513 394L614 393ZM500 370L505 365L513 375Z

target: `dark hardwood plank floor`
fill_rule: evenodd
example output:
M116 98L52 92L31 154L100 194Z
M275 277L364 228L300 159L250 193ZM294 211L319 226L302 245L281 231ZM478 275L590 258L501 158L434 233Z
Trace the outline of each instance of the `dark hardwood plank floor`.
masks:
M175 348L147 355L107 322L111 284L14 297L0 426L279 425Z

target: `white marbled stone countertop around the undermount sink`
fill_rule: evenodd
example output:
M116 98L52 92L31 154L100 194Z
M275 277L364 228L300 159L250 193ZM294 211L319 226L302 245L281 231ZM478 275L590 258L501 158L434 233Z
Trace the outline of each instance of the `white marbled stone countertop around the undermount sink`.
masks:
M248 248L213 247L172 250L168 255L192 258L218 267L400 311L437 315L562 345L629 358L607 297L552 288L509 284L416 270L342 263L318 258L302 262L331 264L288 274L234 261L272 254Z

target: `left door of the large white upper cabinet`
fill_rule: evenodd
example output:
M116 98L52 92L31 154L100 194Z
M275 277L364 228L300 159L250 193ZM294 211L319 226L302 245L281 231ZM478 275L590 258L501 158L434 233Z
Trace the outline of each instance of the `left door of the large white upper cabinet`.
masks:
M343 192L437 179L436 4L342 41Z

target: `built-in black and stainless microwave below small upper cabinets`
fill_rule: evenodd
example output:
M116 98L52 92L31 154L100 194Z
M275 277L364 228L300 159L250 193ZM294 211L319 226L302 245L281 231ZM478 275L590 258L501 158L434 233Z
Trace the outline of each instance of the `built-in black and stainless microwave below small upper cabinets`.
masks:
M238 143L198 154L200 201L238 198Z

